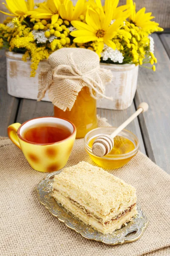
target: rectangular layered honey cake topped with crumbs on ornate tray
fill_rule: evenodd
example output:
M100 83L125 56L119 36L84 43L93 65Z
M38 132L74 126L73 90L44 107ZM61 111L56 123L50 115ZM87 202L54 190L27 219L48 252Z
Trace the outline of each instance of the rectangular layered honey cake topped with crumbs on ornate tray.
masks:
M102 168L80 162L55 175L53 197L85 224L112 233L136 215L136 189Z

